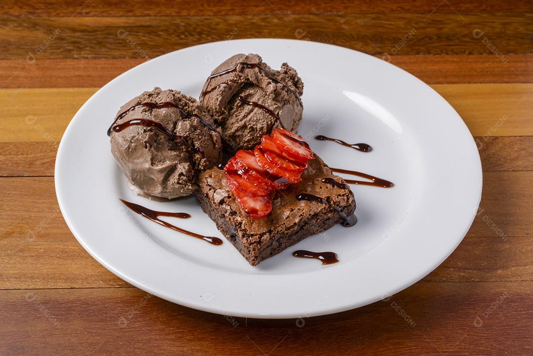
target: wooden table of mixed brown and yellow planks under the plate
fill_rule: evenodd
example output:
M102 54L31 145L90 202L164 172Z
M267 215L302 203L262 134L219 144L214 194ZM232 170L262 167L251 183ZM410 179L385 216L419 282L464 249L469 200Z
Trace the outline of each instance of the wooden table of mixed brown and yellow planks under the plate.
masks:
M533 354L531 1L4 0L0 11L0 354ZM302 327L150 296L78 244L58 209L53 168L79 107L146 58L247 37L384 58L463 117L483 164L481 208L429 276Z

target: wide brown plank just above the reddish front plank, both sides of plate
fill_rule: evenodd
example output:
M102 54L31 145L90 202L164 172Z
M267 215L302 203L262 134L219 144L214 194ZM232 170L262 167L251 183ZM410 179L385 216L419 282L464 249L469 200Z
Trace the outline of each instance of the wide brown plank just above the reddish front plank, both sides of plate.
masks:
M0 182L0 288L126 286L72 236L59 212L52 177ZM468 237L424 281L531 280L531 184L533 172L486 173L481 210Z

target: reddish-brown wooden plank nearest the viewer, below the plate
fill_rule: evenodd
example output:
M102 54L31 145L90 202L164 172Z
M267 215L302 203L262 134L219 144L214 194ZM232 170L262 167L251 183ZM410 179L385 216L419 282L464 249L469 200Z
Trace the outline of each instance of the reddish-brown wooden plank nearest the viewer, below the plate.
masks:
M529 281L416 284L387 301L300 320L214 315L136 288L4 290L0 353L526 355L532 288Z

